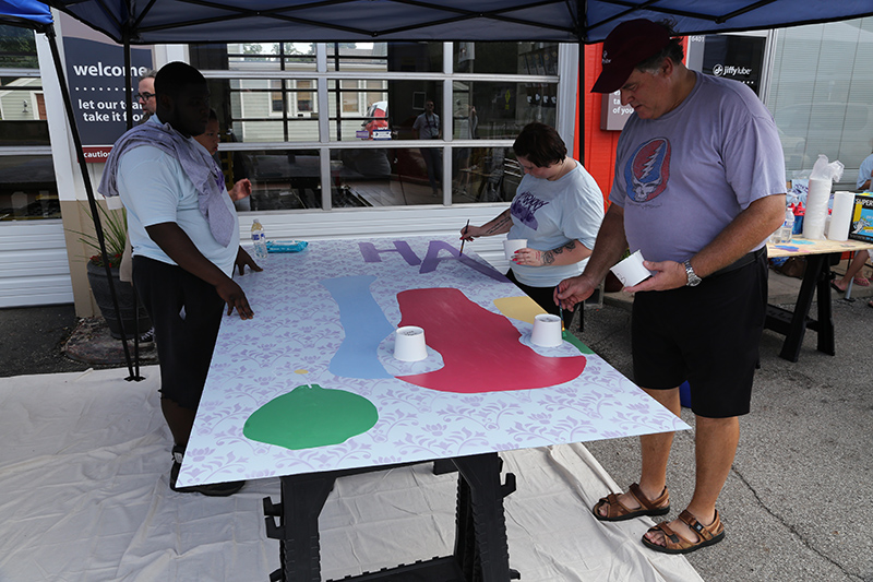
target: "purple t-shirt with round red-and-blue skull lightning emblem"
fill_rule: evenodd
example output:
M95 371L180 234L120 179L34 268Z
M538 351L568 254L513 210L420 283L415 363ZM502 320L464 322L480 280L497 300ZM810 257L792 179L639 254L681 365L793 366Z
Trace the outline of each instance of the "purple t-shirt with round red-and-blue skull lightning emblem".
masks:
M786 191L764 104L742 83L696 76L679 107L658 119L632 115L619 138L609 199L624 209L631 252L649 261L690 259L749 204Z

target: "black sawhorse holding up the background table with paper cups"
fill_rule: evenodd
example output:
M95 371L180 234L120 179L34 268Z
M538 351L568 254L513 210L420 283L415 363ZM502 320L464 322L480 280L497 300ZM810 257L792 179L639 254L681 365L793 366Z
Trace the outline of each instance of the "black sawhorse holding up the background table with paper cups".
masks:
M803 335L806 329L818 332L818 352L829 356L836 355L834 345L834 316L830 310L830 265L834 259L839 260L839 253L806 254L806 271L800 284L798 302L794 310L789 311L772 305L767 306L767 319L764 326L776 333L785 335L785 343L779 356L797 361L800 357L800 347L803 345ZM813 295L817 292L818 319L809 317Z

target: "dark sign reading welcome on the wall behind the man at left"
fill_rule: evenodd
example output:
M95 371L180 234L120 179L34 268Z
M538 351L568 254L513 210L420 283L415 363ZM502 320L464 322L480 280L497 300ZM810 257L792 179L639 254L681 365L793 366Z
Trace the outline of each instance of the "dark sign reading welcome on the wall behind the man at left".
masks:
M115 141L128 129L123 49L112 43L74 36L67 36L63 46L73 115L82 136L85 161L105 162ZM140 76L150 69L152 50L132 49L133 94ZM134 124L142 120L143 110L135 98L130 112Z

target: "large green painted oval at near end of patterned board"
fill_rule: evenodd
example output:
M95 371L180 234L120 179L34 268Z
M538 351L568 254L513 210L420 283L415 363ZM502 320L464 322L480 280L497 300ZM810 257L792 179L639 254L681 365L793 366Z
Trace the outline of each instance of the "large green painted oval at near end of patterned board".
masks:
M308 384L254 411L242 433L286 449L312 449L345 442L370 430L378 419L375 406L363 396Z

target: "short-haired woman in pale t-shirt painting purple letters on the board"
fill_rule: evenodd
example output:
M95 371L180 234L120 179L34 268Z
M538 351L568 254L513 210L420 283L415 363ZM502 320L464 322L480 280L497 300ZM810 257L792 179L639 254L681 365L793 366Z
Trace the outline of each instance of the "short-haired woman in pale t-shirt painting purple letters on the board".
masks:
M525 171L512 204L482 226L463 228L461 238L509 234L510 239L527 239L506 276L542 309L558 314L554 287L585 269L603 221L603 195L582 164L567 157L554 128L529 123L512 147ZM573 312L564 312L565 328L572 319Z

